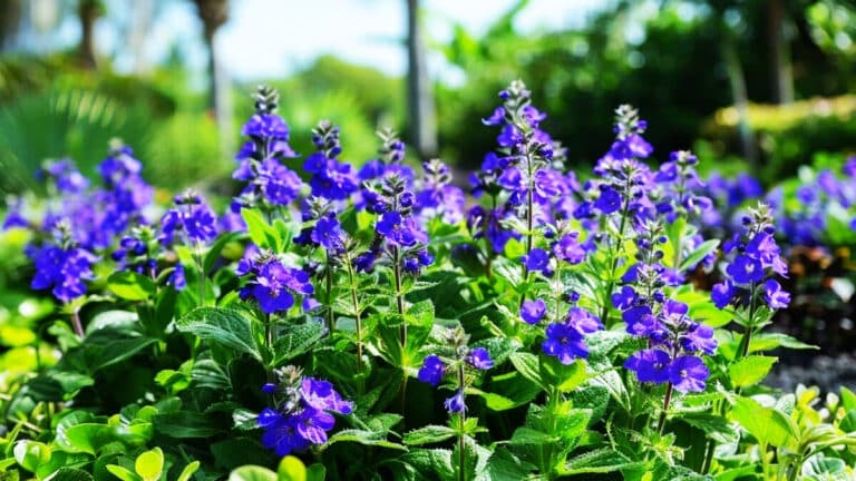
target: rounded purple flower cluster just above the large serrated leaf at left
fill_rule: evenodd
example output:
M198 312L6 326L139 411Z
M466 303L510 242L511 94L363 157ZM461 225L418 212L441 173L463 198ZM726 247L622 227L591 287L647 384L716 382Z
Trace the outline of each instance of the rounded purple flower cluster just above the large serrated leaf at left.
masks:
M305 271L286 267L270 253L253 253L237 264L239 276L249 276L241 288L241 298L254 300L265 314L286 312L294 305L295 296L303 296L303 306L311 304L314 287Z

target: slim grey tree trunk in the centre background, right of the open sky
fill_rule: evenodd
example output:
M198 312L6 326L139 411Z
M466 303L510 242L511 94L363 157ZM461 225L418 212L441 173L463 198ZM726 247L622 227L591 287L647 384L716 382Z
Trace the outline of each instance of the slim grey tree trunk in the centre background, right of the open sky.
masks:
M407 0L407 31L410 136L419 156L425 160L437 155L437 114L419 22L419 0Z

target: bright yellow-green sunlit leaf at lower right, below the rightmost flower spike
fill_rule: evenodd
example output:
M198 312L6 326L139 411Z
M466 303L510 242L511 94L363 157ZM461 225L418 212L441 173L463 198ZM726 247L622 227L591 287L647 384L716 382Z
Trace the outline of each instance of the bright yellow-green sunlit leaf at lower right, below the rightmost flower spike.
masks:
M799 429L789 416L749 397L736 397L731 415L759 443L794 448Z

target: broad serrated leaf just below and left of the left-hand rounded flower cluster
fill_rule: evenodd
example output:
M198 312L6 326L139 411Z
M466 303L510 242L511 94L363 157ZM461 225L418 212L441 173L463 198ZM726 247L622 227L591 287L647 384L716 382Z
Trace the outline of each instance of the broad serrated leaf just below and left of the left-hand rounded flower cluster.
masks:
M250 320L240 311L223 307L197 307L175 323L178 331L195 334L261 361L253 342Z

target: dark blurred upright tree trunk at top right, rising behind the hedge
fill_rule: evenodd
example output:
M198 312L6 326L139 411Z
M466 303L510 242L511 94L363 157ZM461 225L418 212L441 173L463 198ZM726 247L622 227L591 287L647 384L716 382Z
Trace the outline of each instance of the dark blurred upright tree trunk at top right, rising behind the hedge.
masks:
M787 28L787 11L784 0L767 2L767 36L772 72L772 100L776 104L794 101L794 71L790 62L790 46Z

